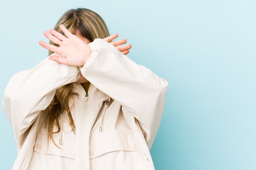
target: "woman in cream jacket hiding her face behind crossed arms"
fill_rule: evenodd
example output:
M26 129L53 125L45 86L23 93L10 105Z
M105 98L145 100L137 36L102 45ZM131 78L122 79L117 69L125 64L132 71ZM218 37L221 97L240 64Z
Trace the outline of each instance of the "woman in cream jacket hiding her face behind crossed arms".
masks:
M50 56L13 75L3 95L13 170L155 169L168 83L128 59L131 46L111 42L117 34L89 9L67 11L44 35Z

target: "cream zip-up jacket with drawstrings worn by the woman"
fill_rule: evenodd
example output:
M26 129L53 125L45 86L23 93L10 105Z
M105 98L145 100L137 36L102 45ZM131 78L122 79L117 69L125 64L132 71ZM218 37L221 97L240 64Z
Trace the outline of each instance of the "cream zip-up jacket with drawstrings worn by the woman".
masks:
M92 55L81 68L47 58L11 77L2 107L17 142L13 170L154 169L149 150L161 121L168 83L101 39L89 46ZM80 71L91 85L86 94L81 84L74 84L79 93L73 97L71 110L76 130L71 131L64 115L62 130L54 137L59 148L52 141L47 146L42 110L56 88L76 82ZM114 102L107 105L110 98Z

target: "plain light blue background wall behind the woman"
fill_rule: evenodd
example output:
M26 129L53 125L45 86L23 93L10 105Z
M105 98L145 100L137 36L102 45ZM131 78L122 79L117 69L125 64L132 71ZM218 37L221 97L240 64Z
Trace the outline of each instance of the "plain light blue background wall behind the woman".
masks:
M255 0L0 2L0 98L11 75L47 57L39 40L71 8L99 13L128 54L169 82L150 150L156 170L256 170ZM16 144L0 109L0 169Z

